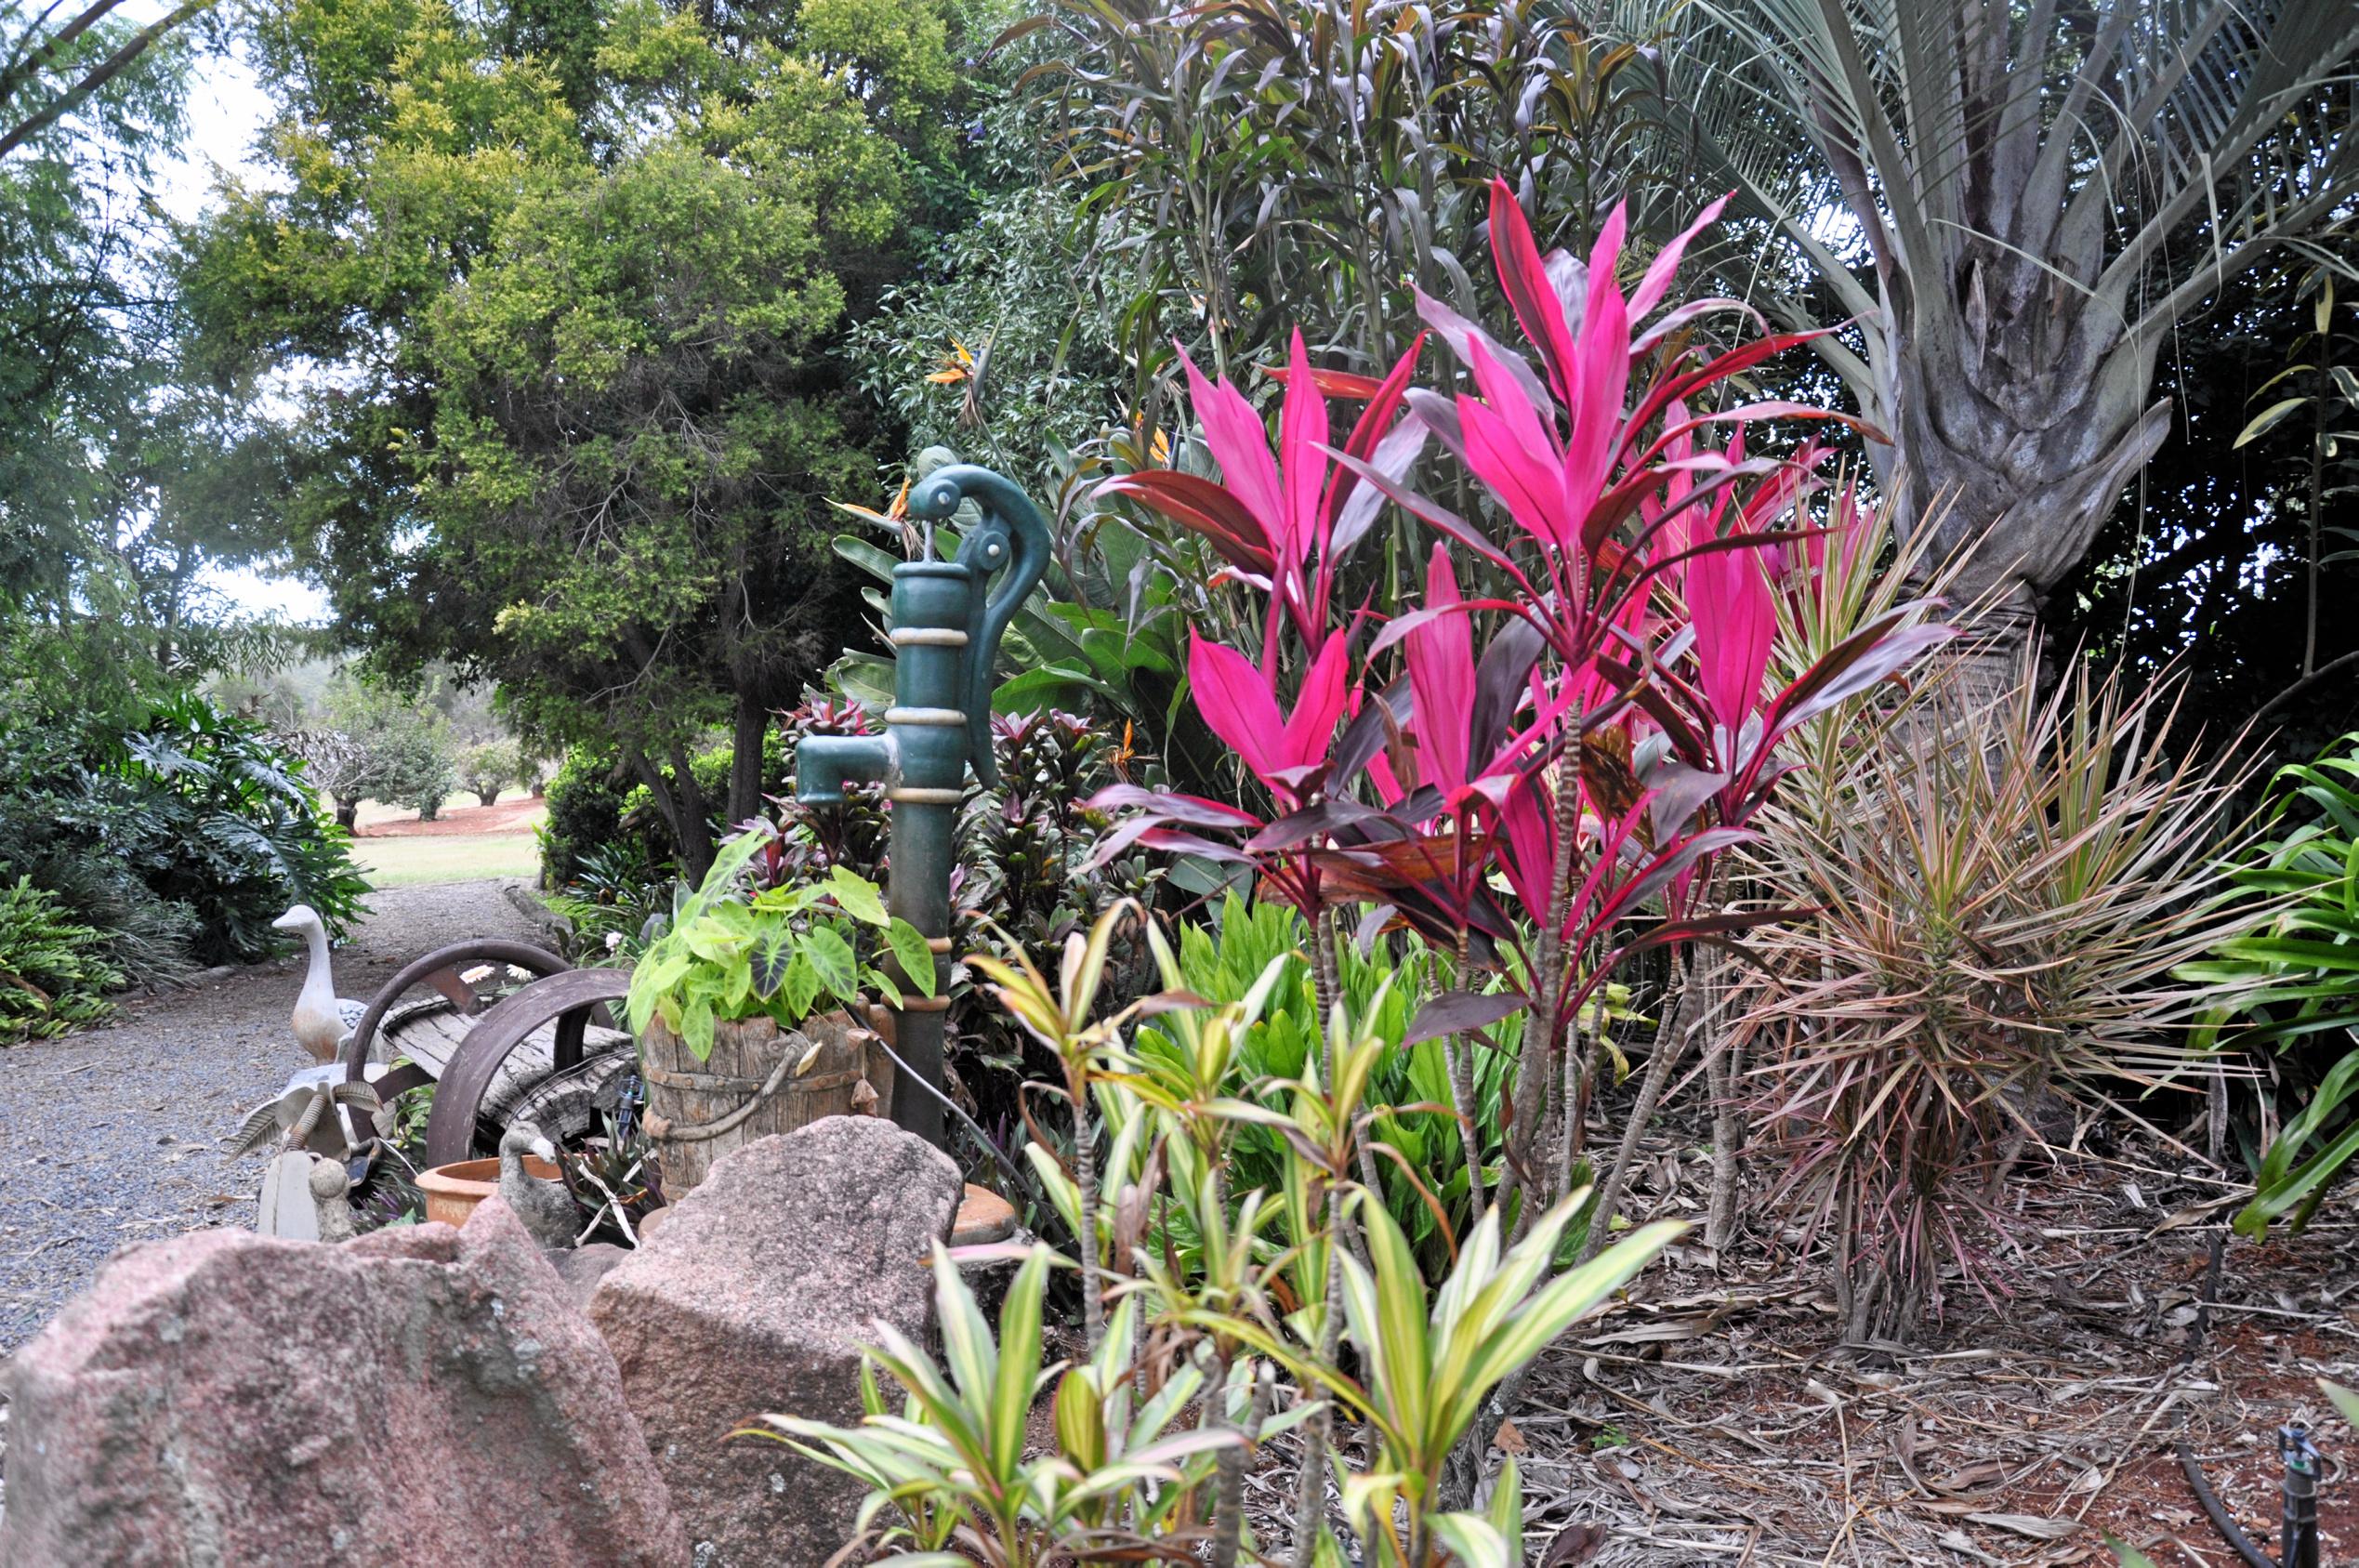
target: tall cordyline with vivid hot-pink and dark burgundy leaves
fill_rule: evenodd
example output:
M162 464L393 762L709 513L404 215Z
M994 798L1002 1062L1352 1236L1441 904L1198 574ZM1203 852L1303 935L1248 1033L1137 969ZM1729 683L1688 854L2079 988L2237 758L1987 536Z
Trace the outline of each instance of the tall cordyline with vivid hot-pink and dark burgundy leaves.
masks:
M1512 1236L1585 1167L1597 1042L1581 1019L1597 988L1635 953L1729 941L1762 920L1710 908L1706 889L1776 788L1781 743L1944 637L1920 622L1923 604L1899 604L1765 689L1762 547L1814 533L1798 507L1819 453L1767 457L1746 431L1833 415L1732 396L1800 335L1715 349L1701 323L1743 321L1743 307L1665 304L1687 243L1717 212L1625 290L1621 212L1588 262L1543 257L1493 182L1496 276L1531 358L1420 295L1460 363L1453 391L1408 384L1420 340L1330 446L1297 337L1274 450L1236 387L1189 368L1220 479L1156 469L1104 486L1201 531L1269 604L1260 648L1198 637L1189 660L1198 712L1260 780L1267 813L1109 790L1097 804L1128 821L1102 854L1146 844L1250 865L1267 896L1312 920L1321 1002L1342 910L1359 910L1364 934L1404 924L1463 964L1512 974L1507 995L1432 1000L1415 1030L1458 1035L1467 1118L1479 1030L1533 1014L1489 1193ZM1432 446L1448 465L1420 483L1411 469ZM1437 500L1453 479L1479 509ZM1425 601L1342 606L1335 566L1385 500L1441 535ZM1481 592L1460 589L1460 566ZM1470 1170L1477 1212L1486 1174Z

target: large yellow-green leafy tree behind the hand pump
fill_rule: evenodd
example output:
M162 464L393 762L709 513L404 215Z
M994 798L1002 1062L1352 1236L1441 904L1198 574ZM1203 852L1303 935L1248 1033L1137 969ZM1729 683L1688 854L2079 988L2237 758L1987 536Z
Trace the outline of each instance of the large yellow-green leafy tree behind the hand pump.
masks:
M344 634L620 750L691 875L859 627L830 495L878 488L837 342L955 141L948 21L288 0L252 14L278 182L184 262L219 373L326 368L288 516ZM686 766L734 736L729 785Z

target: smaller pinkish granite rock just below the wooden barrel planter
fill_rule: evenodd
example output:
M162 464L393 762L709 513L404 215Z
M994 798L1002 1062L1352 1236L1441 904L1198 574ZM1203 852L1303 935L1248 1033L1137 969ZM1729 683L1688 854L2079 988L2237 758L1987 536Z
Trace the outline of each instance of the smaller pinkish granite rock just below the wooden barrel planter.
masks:
M958 1167L887 1120L830 1115L738 1148L599 1280L590 1318L698 1568L816 1566L861 1485L729 1434L769 1410L852 1424L878 1318L925 1337Z

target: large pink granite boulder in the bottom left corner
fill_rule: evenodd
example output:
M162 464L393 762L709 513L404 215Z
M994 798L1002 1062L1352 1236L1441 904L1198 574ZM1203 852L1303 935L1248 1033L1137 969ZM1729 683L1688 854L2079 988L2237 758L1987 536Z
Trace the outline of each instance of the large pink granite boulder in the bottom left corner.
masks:
M613 1358L498 1198L465 1231L132 1247L5 1386L0 1568L689 1556Z

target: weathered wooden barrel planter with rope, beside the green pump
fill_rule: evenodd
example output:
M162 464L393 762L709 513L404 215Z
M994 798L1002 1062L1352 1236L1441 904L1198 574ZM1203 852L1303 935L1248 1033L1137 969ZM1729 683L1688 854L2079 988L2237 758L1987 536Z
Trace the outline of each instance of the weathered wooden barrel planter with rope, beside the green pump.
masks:
M889 1059L873 1052L870 1040L840 1012L807 1019L802 1028L741 1019L715 1023L712 1056L696 1061L663 1019L651 1019L639 1037L639 1078L663 1195L686 1195L715 1160L764 1134L793 1132L823 1115L882 1113L892 1106ZM863 1082L873 1096L861 1094Z

